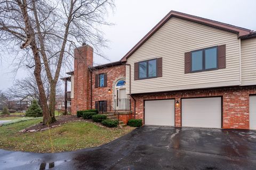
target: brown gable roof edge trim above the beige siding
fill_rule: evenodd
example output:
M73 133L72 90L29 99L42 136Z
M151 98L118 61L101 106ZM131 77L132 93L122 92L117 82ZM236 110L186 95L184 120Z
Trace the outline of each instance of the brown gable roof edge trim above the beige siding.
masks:
M144 36L122 59L122 62L125 62L143 43L145 43L159 28L161 28L170 18L176 17L183 20L188 20L191 22L196 22L199 24L204 24L209 27L225 30L228 32L236 33L239 36L247 35L251 32L249 29L236 27L234 25L221 23L209 19L200 18L198 16L189 15L181 12L171 11L167 14L160 22L158 22L153 29L151 29L146 36Z

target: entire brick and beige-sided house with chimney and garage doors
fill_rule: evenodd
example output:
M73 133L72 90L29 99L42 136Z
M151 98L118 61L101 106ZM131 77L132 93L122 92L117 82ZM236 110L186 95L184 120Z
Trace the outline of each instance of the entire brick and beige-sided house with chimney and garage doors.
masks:
M256 32L249 29L171 11L121 61L93 66L92 47L75 49L68 74L73 114L114 108L126 110L124 122L256 129Z

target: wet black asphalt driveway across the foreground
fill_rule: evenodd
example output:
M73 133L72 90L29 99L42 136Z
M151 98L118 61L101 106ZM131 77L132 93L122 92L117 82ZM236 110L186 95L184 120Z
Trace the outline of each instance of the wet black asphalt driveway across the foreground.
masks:
M144 126L100 147L0 150L0 169L256 169L256 131Z

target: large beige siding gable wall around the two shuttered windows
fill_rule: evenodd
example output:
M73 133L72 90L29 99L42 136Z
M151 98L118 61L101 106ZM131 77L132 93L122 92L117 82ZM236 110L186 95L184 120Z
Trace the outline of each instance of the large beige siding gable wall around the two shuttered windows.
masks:
M226 69L185 74L184 53L226 44ZM163 77L134 81L134 63L163 57ZM171 18L128 58L132 94L181 89L235 86L239 74L239 40L235 33ZM126 67L129 92L129 67Z

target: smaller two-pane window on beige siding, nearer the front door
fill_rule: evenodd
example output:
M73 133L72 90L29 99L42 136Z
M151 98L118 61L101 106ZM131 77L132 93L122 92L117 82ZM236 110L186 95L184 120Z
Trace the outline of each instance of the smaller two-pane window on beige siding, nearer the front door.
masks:
M157 60L139 62L139 79L157 77Z

